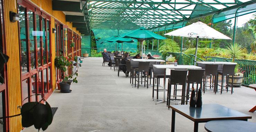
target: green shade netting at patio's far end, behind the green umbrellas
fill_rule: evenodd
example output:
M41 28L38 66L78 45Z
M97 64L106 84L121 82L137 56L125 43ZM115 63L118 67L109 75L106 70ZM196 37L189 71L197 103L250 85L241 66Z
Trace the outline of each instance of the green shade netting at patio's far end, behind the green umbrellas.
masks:
M97 48L115 48L116 42L108 42L104 39L110 38L114 35L123 34L132 30L118 30L117 29L92 29ZM121 49L121 43L117 43L117 48ZM137 49L137 42L123 43L123 49Z

